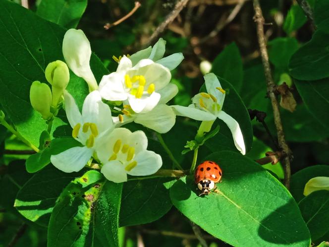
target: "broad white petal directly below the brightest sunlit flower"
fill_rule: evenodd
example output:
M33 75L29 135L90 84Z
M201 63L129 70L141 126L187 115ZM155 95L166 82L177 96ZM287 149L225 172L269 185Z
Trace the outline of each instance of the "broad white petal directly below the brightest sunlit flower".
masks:
M171 107L159 104L152 111L145 114L137 114L135 123L142 124L159 133L168 132L176 121L176 115Z

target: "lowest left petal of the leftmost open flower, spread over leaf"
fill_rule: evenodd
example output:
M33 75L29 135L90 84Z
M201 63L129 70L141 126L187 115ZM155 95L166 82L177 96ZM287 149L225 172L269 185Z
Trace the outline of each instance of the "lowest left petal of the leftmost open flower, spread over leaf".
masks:
M90 160L93 150L84 147L72 147L64 152L52 155L50 160L52 164L65 173L80 171Z

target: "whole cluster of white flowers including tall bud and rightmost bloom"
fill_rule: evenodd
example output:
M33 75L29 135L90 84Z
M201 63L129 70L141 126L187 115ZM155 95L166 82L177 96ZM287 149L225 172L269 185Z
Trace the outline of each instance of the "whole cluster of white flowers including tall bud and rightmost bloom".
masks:
M116 71L104 75L99 85L90 68L91 48L83 31L69 29L62 50L68 67L88 83L90 93L80 113L72 95L64 91L72 136L83 146L51 156L51 162L61 171L80 171L93 157L100 162L104 176L115 183L127 181L127 174L154 174L162 166L161 156L147 150L148 139L143 131L131 132L121 126L135 122L165 133L175 124L176 116L198 121L223 120L237 149L245 154L239 124L221 111L225 91L215 74L205 75L208 93L195 95L189 107L166 105L178 93L177 86L170 83L170 70L179 65L183 55L175 53L164 58L163 39L153 47L118 59ZM111 108L103 100L115 102L120 114L111 116Z

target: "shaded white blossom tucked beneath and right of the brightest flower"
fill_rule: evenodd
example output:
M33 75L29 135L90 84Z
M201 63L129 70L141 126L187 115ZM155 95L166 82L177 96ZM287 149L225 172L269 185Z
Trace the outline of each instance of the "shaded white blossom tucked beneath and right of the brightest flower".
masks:
M124 105L122 114L119 117L112 117L116 127L135 122L159 133L168 132L175 124L176 115L173 109L167 106L166 103L178 93L178 88L175 84L168 84L159 93L161 95L160 101L150 112L135 113L129 105Z

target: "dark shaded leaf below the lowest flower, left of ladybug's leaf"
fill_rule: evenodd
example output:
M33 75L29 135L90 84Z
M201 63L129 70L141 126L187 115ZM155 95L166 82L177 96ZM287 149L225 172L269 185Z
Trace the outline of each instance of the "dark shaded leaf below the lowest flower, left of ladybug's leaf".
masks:
M172 206L169 186L172 179L155 178L128 181L123 185L120 226L150 223L166 214Z

